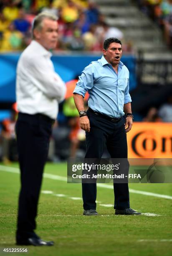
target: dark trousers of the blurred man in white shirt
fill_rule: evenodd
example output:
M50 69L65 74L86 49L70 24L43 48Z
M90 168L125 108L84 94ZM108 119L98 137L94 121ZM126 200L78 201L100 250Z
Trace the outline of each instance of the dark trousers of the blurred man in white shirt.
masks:
M43 115L19 113L16 123L20 163L17 238L34 236L43 168L48 155L52 121Z

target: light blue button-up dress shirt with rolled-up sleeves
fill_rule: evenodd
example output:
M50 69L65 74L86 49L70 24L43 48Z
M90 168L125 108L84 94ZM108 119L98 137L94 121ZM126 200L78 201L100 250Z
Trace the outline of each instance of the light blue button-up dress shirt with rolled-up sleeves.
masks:
M104 56L87 66L73 93L85 96L89 92L89 107L112 118L124 115L124 104L131 102L129 95L129 70L120 61L118 74Z

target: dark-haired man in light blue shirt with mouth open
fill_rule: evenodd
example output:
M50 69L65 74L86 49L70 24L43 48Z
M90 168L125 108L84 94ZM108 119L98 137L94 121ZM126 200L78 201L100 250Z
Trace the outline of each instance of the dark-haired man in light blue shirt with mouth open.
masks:
M122 44L117 38L104 41L103 56L87 66L76 84L73 98L80 115L81 128L86 131L85 158L100 159L106 146L111 158L127 159L126 132L132 128L129 70L120 61ZM89 109L83 98L89 92ZM96 183L83 183L83 215L96 212ZM128 183L114 183L115 214L140 214L129 207Z

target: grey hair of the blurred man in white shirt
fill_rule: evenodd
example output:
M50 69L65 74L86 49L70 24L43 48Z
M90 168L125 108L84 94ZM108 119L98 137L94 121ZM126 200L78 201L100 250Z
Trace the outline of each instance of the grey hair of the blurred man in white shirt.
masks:
M39 13L33 20L33 25L32 25L32 38L35 39L33 31L34 29L37 29L38 31L41 31L43 28L43 20L48 19L48 20L58 20L57 16L49 13L49 12L42 12Z

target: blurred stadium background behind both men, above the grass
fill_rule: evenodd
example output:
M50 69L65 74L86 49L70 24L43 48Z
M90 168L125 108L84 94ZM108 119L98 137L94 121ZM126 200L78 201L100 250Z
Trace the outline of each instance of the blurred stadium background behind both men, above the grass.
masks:
M130 72L134 125L127 134L129 157L171 158L172 0L1 0L0 161L18 160L16 65L30 44L33 19L42 11L58 16L58 45L52 61L67 86L48 160L84 156L85 133L79 127L72 92L83 68L101 58L109 37L122 41L121 61Z

